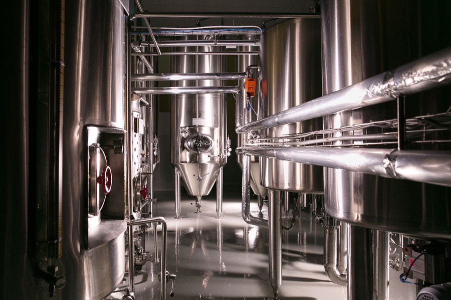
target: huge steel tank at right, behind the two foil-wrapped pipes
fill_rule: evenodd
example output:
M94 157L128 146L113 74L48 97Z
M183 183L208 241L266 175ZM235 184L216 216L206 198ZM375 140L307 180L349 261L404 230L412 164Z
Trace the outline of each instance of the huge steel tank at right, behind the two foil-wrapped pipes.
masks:
M442 7L443 1L414 3L349 1L349 6L341 5L323 18L325 93L395 68L451 43L449 22L436 22L446 19L447 9ZM449 7L449 3L445 6ZM332 25L337 20L336 13L349 13L352 21ZM345 34L349 34L351 46L342 44ZM344 54L335 55L340 51ZM348 73L343 73L345 67L340 63L348 64ZM451 105L449 92L447 86L409 96L406 116L446 111ZM336 128L395 118L396 111L396 101L392 101L334 114L325 118L325 126ZM362 134L361 131L354 133ZM340 134L337 132L335 135ZM449 131L432 139L449 139ZM393 145L379 147L393 148ZM406 148L449 149L449 143L407 143ZM447 187L326 169L326 211L352 224L416 236L450 238L450 205L451 195Z

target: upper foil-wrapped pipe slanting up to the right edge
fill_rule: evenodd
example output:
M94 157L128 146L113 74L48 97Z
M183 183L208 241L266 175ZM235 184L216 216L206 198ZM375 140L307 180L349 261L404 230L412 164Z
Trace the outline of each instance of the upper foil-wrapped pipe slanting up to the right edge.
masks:
M236 131L243 133L322 117L391 101L401 94L412 94L447 85L451 81L450 57L451 47L444 48L322 97L243 125Z

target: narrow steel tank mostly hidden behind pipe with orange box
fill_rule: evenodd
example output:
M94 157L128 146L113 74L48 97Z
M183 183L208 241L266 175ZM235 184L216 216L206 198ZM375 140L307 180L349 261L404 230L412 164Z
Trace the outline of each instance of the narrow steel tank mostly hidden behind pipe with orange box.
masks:
M244 37L244 39L249 40L255 40L258 38L257 35L249 34ZM245 51L258 51L259 48L257 46L238 46L237 51L238 52L245 52ZM246 72L246 69L250 65L258 65L259 64L259 57L257 55L239 55L238 56L238 72ZM252 69L252 72L255 77L259 75L259 72L257 69ZM246 100L246 89L245 89L245 82L241 82L242 84L242 96L243 99L243 107L241 107L245 113L248 114L248 120L250 122L255 121L262 117L263 111L260 109L259 104L261 103L261 94L260 94L260 88L259 86L256 86L255 90L255 96L252 98L249 98ZM248 101L250 102L250 106L248 108ZM260 114L260 116L259 116ZM237 146L240 147L243 145L243 134L239 133L237 136ZM242 167L242 161L243 161L243 154L237 154L237 162L240 167ZM266 188L260 184L260 168L259 168L259 157L258 156L251 156L251 188L254 191L255 194L265 196L268 192Z

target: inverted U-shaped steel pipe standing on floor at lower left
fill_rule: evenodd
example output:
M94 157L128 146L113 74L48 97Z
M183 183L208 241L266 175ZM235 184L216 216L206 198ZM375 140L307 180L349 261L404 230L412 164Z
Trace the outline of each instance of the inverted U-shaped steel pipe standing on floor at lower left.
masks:
M128 284L130 292L135 291L135 268L134 268L134 247L133 247L133 226L135 225L144 225L149 223L161 223L161 258L160 258L160 300L166 299L166 255L167 255L167 225L164 217L156 216L149 217L138 220L128 221L128 232L129 232L129 241L128 241ZM154 230L156 230L156 225L154 225ZM131 235L130 235L131 232Z

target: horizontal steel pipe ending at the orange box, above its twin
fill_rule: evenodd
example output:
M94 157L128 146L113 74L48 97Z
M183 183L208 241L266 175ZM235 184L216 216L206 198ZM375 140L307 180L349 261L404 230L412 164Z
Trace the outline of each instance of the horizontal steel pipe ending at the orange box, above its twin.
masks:
M244 79L246 73L168 73L133 75L132 81L140 80L227 80Z

